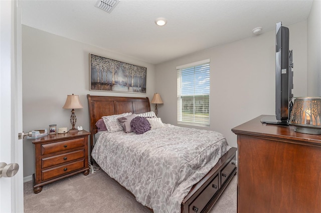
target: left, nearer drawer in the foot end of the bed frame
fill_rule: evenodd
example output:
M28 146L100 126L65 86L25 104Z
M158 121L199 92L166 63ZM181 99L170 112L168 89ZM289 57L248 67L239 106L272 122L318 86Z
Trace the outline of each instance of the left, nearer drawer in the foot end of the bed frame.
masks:
M216 175L203 192L190 204L189 212L201 212L210 200L209 197L213 197L218 190L219 176Z

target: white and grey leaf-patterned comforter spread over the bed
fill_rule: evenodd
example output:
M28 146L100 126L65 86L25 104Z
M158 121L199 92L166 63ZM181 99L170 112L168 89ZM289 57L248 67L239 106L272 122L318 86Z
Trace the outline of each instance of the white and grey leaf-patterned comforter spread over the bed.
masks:
M181 212L181 202L230 149L215 131L164 124L143 134L102 133L92 157L137 201L157 212Z

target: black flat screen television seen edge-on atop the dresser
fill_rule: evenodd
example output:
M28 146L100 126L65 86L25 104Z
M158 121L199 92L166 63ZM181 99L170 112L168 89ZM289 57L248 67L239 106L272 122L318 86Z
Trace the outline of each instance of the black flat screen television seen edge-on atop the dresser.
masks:
M292 110L293 57L289 49L289 29L276 23L275 29L275 117L266 116L263 123L289 123Z

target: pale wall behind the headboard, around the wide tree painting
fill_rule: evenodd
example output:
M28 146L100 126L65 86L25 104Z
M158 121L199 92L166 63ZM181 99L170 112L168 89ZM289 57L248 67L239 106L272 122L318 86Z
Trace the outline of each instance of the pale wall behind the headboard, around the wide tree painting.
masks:
M147 67L146 94L89 90L89 53ZM84 108L75 109L76 126L89 131L86 94L148 96L155 92L154 65L89 44L22 26L23 128L71 128L70 109L63 109L67 94L78 94ZM154 106L151 106L154 107ZM24 176L34 173L34 146L24 139Z

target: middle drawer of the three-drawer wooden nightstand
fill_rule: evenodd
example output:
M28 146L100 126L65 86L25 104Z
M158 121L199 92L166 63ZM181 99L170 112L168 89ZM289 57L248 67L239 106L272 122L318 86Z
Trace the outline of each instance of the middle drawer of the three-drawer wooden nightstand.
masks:
M72 160L76 160L84 157L85 157L84 149L67 152L67 153L55 155L52 157L46 157L41 159L41 168L47 168L47 167L58 165L61 163L67 163Z

